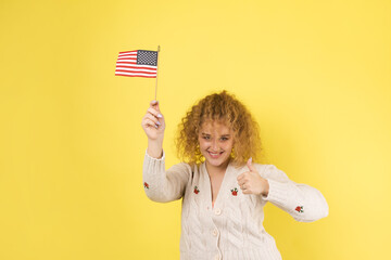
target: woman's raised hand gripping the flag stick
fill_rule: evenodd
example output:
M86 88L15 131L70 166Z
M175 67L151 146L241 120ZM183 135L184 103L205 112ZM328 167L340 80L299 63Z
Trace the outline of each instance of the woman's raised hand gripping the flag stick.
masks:
M151 101L150 107L142 118L141 127L144 130L149 141L163 142L165 121L159 108L157 101Z

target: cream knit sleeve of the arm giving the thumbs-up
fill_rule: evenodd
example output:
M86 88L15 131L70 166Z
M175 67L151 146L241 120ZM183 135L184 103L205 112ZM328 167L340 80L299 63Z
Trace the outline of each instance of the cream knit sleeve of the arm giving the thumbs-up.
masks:
M273 165L266 166L261 176L269 183L269 193L263 199L287 211L297 221L312 222L328 216L328 204L315 187L289 180Z

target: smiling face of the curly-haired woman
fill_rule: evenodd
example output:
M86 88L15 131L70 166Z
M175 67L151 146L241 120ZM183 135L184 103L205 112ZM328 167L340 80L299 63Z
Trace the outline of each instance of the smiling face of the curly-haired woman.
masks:
M218 121L205 122L199 133L201 154L212 167L227 167L234 146L234 132Z

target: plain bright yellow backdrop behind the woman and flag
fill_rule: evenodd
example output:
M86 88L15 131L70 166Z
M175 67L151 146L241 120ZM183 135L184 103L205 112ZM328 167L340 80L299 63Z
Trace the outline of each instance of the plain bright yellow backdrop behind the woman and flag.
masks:
M142 186L154 79L114 76L157 44L167 166L185 112L226 89L264 162L329 204L313 223L266 206L283 259L390 259L390 17L387 0L1 1L0 259L179 258L180 202Z

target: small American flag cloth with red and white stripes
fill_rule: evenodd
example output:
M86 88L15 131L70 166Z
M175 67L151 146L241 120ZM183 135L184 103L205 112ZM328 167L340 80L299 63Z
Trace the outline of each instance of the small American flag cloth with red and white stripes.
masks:
M156 51L119 52L115 66L116 76L155 78L156 70Z

